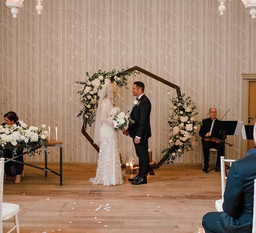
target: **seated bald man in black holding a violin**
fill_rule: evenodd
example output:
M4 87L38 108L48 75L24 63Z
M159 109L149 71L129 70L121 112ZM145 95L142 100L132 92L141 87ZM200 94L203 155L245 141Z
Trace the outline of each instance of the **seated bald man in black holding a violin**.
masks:
M217 161L216 161L216 168L215 171L219 172L220 168L220 156L223 155L223 143L216 143L214 141L206 141L204 138L208 138L210 134L210 129L213 121L219 121L217 116L217 110L215 108L209 109L209 118L203 119L201 128L199 130L199 135L202 137L202 146L203 146L203 153L204 153L204 167L203 172L207 172L209 167L209 154L210 154L210 148L215 148L217 150ZM215 138L221 139L221 134L219 135L212 135ZM225 139L227 141L227 139ZM218 167L218 168L217 168Z

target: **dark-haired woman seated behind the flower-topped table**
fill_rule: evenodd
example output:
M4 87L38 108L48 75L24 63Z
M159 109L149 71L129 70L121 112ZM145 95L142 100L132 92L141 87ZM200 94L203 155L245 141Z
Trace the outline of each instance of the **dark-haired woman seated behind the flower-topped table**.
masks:
M14 112L8 112L4 115L4 123L2 125L12 125L16 124L19 125L18 122L19 117L17 116L16 113ZM17 155L23 153L23 148L18 148L16 151ZM4 157L6 158L12 158L15 157L16 155L13 155L10 149L4 149ZM16 158L15 160L24 162L23 160L23 155ZM15 176L15 181L14 183L20 183L21 175L23 172L23 164L16 163L13 161L8 161L4 164L4 172L6 174L6 179L10 180L12 179L13 176Z

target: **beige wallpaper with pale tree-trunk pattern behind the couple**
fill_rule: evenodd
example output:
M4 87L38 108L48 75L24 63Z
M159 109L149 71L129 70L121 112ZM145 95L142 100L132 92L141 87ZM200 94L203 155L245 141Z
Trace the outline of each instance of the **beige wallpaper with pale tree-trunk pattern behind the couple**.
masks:
M57 126L63 161L97 162L76 116L81 87L75 81L98 69L137 65L180 86L196 102L198 119L215 107L219 117L230 108L225 119L240 120L241 74L256 68L256 21L241 1L226 4L224 16L213 0L45 0L40 16L34 0L24 4L15 20L0 2L0 117L15 111L27 124ZM152 102L149 144L158 162L167 145L169 98L175 91L144 75L131 77L129 87L136 80L145 82ZM121 95L121 110L131 110L131 91ZM93 137L93 127L88 133ZM119 138L123 161L135 156L132 140L121 133ZM226 154L238 158L241 137L229 138L235 147ZM176 162L203 161L197 139L195 151ZM58 161L57 150L51 151L49 160Z

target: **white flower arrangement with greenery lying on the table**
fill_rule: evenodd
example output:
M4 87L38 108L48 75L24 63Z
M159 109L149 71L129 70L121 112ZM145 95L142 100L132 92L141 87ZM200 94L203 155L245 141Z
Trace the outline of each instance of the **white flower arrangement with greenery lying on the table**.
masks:
M29 156L39 152L39 148L43 147L48 141L48 131L45 124L38 127L28 126L22 120L19 125L0 125L0 155L4 156L4 149L11 150L16 155L17 148L26 148ZM18 147L17 147L18 146ZM45 151L48 153L47 149Z

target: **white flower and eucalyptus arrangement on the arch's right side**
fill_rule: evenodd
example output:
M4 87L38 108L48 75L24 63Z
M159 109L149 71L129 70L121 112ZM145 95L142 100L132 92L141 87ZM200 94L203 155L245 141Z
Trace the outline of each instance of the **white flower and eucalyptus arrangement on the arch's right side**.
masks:
M181 97L172 98L171 102L173 107L170 109L172 114L168 123L172 134L168 147L162 151L165 164L173 163L176 157L180 157L185 150L194 150L190 139L196 135L196 125L201 124L194 118L198 113L195 112L196 106L194 102L191 102L190 97L185 98L185 94L182 94Z

